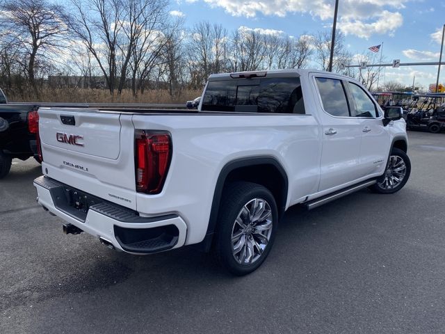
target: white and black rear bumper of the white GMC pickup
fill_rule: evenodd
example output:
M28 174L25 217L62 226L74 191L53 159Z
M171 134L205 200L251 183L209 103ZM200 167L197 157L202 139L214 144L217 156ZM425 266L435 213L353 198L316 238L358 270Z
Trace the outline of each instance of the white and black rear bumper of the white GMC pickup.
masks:
M39 204L67 221L65 233L88 232L109 248L133 254L157 253L185 243L186 223L175 214L141 217L131 209L44 176L35 179L34 186Z

